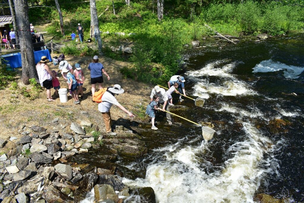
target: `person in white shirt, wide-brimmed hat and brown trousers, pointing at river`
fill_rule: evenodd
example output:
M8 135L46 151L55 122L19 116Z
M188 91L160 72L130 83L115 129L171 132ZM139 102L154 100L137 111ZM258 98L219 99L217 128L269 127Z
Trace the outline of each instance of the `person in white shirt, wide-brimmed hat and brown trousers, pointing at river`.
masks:
M112 119L110 109L113 104L118 106L121 110L126 112L130 117L135 117L131 112L118 103L115 95L124 93L124 90L119 84L115 84L113 87L108 87L107 91L102 95L102 102L98 104L98 110L102 113L103 121L105 122L105 130L108 135L117 135L117 133L112 132Z

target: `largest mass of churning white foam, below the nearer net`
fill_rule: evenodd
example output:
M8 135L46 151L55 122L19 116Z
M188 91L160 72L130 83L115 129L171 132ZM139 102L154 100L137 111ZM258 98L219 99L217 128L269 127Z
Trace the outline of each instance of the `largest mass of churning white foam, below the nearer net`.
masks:
M247 139L230 146L222 170L206 174L202 168L201 146L164 151L166 161L147 167L146 178L123 179L130 186L152 187L163 202L253 202L264 170L258 167L270 141L250 123L243 122ZM208 163L210 164L210 163ZM203 167L207 167L205 165Z

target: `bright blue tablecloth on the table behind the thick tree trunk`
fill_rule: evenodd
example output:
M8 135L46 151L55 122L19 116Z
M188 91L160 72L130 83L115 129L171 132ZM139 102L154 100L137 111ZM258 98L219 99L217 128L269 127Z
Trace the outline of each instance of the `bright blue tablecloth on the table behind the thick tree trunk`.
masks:
M35 64L37 64L42 56L46 56L50 62L52 61L52 57L50 55L50 51L47 50L41 50L41 51L34 51L34 57L35 57ZM4 60L7 60L7 64L10 64L12 68L18 68L21 67L21 53L12 53L12 54L6 54L2 55L2 58Z

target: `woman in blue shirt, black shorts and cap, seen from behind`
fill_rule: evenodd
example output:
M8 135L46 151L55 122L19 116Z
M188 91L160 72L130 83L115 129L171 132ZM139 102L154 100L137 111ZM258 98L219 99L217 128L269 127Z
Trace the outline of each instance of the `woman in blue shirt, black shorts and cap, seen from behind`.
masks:
M89 71L91 71L91 84L92 84L92 96L95 93L95 86L96 83L99 86L99 89L103 88L102 83L103 83L103 77L102 73L104 73L107 77L108 80L110 80L109 75L107 72L105 72L105 69L101 63L98 63L98 56L93 57L93 62L89 64L88 66Z

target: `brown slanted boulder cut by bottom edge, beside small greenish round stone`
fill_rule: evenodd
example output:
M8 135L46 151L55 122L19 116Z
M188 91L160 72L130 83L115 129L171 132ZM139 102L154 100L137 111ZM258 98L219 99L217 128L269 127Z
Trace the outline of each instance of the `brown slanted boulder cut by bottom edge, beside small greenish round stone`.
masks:
M60 192L59 190L57 190L56 188L54 188L54 186L50 185L47 188L47 192L45 194L45 200L48 203L53 203L53 202L58 202L58 203L72 203L74 202L73 199L71 197L68 197L67 195L63 194L62 192Z

